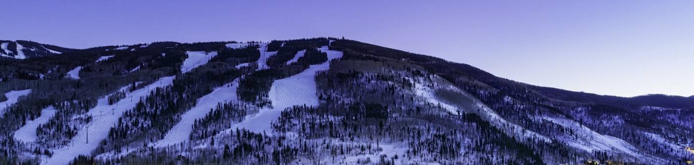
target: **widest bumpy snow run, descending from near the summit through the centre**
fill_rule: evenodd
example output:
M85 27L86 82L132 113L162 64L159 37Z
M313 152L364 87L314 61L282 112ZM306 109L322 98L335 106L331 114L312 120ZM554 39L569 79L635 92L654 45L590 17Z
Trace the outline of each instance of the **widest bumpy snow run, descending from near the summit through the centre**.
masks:
M231 129L245 128L253 132L270 134L272 121L276 120L282 110L287 107L319 105L316 94L316 73L330 69L330 60L342 57L341 51L330 51L328 46L323 46L319 50L328 53L328 61L322 64L313 64L305 71L289 78L275 80L269 92L272 108L263 108L257 114L246 117L246 120L241 123L232 125Z

